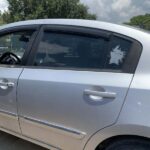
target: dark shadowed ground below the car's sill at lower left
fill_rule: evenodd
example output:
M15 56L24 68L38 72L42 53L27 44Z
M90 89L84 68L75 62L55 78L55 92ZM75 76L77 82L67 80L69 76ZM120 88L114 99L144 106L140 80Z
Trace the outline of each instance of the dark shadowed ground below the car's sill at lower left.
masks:
M47 150L0 131L0 150Z

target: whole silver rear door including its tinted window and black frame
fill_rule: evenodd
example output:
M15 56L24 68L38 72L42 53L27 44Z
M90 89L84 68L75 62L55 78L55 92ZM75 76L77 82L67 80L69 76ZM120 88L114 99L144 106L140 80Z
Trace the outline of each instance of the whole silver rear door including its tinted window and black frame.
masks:
M22 134L77 150L114 124L139 58L132 57L135 45L125 36L97 29L43 27L31 67L19 78Z

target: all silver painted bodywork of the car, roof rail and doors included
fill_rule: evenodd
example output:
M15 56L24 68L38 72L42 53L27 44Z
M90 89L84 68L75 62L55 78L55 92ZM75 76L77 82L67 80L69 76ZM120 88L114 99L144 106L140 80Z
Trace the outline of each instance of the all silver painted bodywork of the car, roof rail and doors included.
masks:
M33 24L72 25L113 31L138 40L143 51L134 75L25 68L18 87L5 94L0 91L0 109L17 115L17 92L19 116L78 130L86 133L86 136L79 140L56 128L52 130L20 118L22 137L65 150L94 150L103 140L117 135L150 138L150 34L111 23L67 19L24 21L2 26L0 30ZM19 68L1 67L0 79L9 79L16 85L21 71ZM96 97L84 95L85 90L116 93L116 98L96 101ZM12 121L7 115L0 115L0 122L11 121L14 128L7 124L5 130L19 132L18 119Z

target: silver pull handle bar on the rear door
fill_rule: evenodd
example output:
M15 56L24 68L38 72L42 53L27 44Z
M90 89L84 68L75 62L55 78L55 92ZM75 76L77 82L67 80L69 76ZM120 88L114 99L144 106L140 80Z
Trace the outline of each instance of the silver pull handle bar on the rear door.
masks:
M113 93L113 92L100 92L100 91L85 90L84 94L89 95L89 96L97 96L100 98L109 98L109 99L116 98L116 93Z

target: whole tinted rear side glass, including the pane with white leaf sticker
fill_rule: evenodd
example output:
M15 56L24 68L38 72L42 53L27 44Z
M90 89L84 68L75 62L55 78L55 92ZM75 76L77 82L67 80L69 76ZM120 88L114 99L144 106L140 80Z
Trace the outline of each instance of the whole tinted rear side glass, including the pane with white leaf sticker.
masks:
M110 46L111 43L111 46ZM114 37L44 32L34 66L121 70L131 43Z

